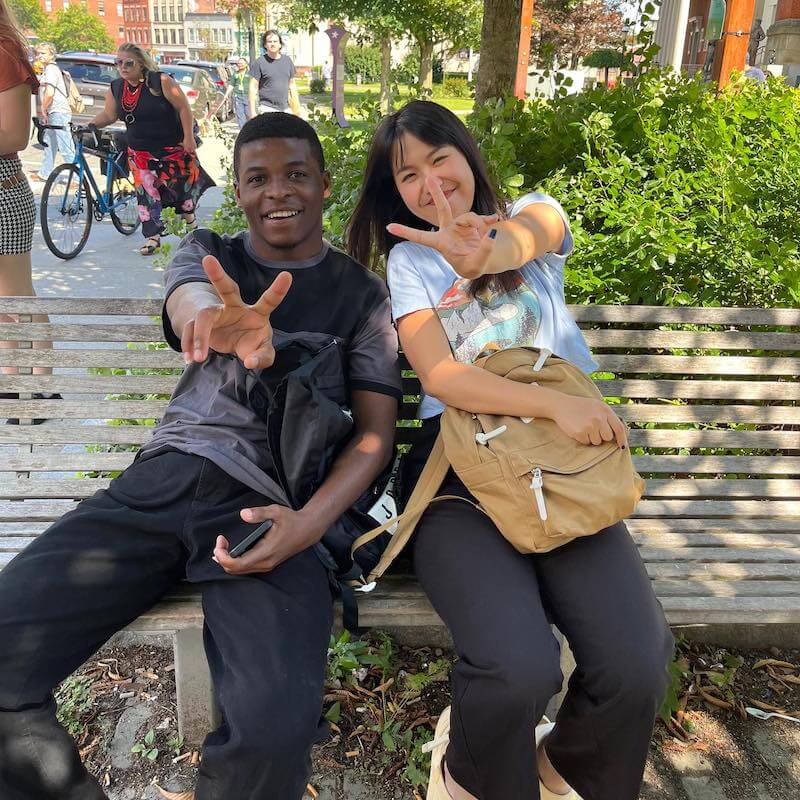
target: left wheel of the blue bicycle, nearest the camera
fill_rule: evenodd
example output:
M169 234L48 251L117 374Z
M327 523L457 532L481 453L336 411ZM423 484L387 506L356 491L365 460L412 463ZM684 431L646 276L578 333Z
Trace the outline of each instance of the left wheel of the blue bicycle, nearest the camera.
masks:
M75 164L61 164L50 173L39 209L42 233L50 252L68 260L83 250L92 228L89 182Z

